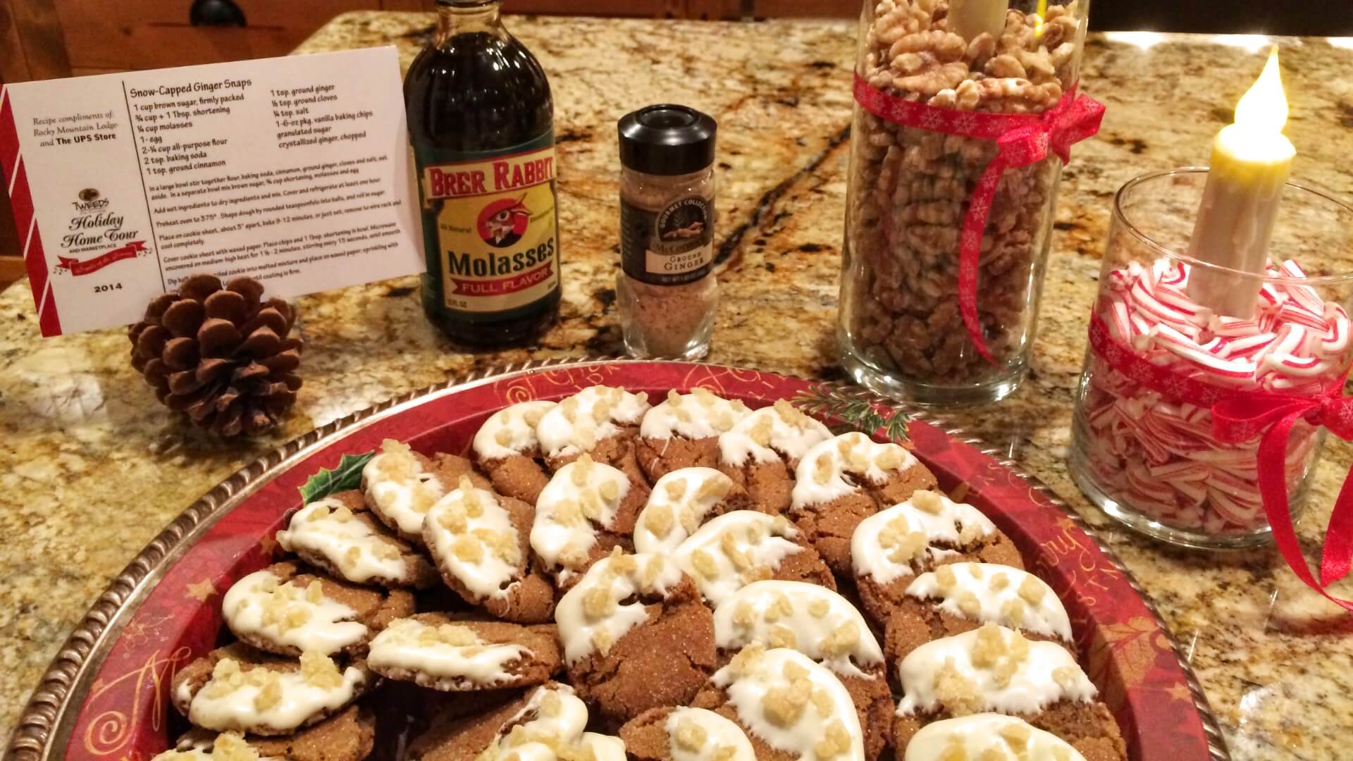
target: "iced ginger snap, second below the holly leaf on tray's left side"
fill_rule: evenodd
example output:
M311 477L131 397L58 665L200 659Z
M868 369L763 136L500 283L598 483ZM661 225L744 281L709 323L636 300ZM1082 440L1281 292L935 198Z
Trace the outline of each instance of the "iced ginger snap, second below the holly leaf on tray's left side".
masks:
M221 601L231 634L279 655L361 653L375 632L413 612L414 597L405 589L357 586L292 562L241 578Z

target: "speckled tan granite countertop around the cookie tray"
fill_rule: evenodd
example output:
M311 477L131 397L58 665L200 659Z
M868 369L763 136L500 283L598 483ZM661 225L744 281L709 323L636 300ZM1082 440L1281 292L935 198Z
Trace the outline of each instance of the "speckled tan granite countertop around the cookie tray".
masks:
M407 65L432 18L340 16L299 51L395 43ZM414 279L299 299L306 385L284 428L218 443L157 406L122 330L38 337L26 283L0 294L0 737L88 605L160 527L279 443L448 375L620 348L614 121L658 100L720 122L724 305L710 362L842 378L833 324L854 24L515 18L556 96L563 317L533 351L457 353L423 320ZM1353 195L1348 41L1288 39L1295 175ZM1273 551L1169 550L1105 523L1066 475L1072 393L1114 191L1206 161L1262 65L1262 39L1095 35L1085 89L1108 106L1076 146L1028 382L953 418L1042 477L1095 525L1184 643L1238 758L1333 758L1353 730L1353 619ZM1299 532L1314 557L1353 448L1331 443ZM1345 594L1348 596L1348 594Z

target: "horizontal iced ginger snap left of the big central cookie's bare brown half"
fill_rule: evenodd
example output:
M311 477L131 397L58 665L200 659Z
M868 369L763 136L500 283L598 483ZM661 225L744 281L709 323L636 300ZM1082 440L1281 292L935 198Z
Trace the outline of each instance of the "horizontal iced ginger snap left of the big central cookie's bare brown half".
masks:
M399 681L442 692L474 692L545 682L560 666L553 626L451 620L418 613L371 640L367 666Z

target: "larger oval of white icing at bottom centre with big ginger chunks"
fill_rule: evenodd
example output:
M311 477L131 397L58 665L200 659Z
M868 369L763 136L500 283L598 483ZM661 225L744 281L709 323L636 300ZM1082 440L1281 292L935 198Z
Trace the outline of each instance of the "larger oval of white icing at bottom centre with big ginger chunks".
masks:
M739 723L766 745L806 761L865 758L850 693L808 655L783 647L750 647L710 681L728 693Z

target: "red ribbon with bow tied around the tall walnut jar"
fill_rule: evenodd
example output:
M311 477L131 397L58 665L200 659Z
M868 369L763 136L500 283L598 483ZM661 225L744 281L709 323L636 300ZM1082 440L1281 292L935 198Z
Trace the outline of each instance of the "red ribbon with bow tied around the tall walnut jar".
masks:
M894 97L855 74L855 102L879 119L925 131L996 141L997 153L982 172L967 200L963 236L958 253L958 307L967 337L977 353L992 359L977 318L977 269L982 256L982 230L1001 175L1012 167L1027 167L1047 158L1051 150L1063 164L1072 160L1072 146L1099 133L1104 106L1072 87L1057 106L1042 114L986 114L939 108Z

